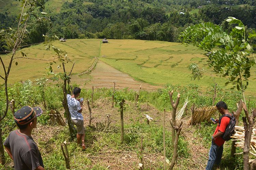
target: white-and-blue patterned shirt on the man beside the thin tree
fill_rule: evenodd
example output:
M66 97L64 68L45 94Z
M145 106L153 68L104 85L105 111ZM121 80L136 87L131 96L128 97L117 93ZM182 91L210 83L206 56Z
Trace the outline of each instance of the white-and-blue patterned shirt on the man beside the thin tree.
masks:
M83 115L78 112L81 110L80 102L75 98L71 98L71 95L69 94L67 95L67 101L68 101L71 119L84 120Z

